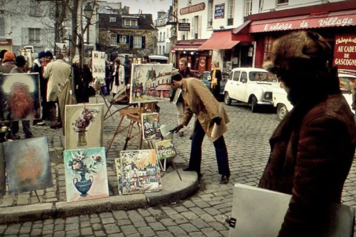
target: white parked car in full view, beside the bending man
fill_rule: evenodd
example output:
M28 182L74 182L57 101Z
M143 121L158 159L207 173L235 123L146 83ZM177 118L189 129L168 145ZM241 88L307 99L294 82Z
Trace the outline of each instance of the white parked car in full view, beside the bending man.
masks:
M235 68L224 89L224 101L232 100L248 103L252 113L258 106L271 106L272 91L278 87L275 74L258 68Z

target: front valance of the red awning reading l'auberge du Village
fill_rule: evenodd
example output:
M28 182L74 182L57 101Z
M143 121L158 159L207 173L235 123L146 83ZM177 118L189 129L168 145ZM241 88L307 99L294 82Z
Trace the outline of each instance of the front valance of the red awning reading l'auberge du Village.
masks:
M356 25L356 10L253 21L250 33Z

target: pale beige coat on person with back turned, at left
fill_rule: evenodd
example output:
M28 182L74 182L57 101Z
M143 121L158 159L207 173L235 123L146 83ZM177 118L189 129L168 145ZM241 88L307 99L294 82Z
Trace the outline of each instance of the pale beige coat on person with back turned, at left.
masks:
M47 101L56 101L59 89L62 89L71 74L71 66L61 59L47 64L44 77L48 78Z

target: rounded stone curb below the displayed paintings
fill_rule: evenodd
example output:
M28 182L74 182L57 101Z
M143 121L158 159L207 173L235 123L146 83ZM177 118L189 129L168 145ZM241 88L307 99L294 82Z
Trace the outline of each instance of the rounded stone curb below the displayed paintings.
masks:
M159 192L117 195L81 202L41 203L0 208L0 224L137 209L182 200L195 193L199 183L196 172L178 170L182 181L175 170L166 173L162 177L162 190Z

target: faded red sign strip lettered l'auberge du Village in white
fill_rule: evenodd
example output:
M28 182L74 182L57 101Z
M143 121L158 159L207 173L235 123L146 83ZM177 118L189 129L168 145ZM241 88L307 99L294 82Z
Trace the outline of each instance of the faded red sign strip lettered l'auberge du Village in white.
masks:
M250 33L263 31L277 31L277 30L295 30L305 28L319 28L319 27L334 27L334 26L349 26L356 25L356 15L343 15L323 18L307 18L300 20L280 20L275 23L259 24L259 21L252 22L250 25ZM262 22L262 21L261 21Z

